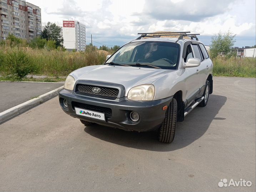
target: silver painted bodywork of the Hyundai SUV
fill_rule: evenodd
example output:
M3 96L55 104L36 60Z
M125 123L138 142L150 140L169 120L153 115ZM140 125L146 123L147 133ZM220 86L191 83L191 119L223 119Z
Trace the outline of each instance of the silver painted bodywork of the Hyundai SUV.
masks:
M175 38L154 38L140 39L138 41L166 41L175 42ZM184 68L184 59L182 58L183 44L187 39L182 39L180 44L180 60L177 70L139 68L127 66L94 65L77 69L70 73L76 80L95 80L105 81L124 85L127 96L132 87L142 84L153 84L155 86L155 98L159 100L170 97L177 91L182 91L182 100L186 100L196 90L205 84L209 74L212 74L212 62L210 58L201 62L200 66L194 68ZM193 49L192 49L193 50ZM194 53L194 50L193 50ZM195 55L195 54L194 54ZM206 69L206 65L210 66Z

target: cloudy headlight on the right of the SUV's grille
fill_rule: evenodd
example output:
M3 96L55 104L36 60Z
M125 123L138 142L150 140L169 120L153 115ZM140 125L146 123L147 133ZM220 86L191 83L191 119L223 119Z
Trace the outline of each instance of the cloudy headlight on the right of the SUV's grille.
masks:
M155 96L155 87L152 84L133 87L128 92L127 98L132 100L151 101Z

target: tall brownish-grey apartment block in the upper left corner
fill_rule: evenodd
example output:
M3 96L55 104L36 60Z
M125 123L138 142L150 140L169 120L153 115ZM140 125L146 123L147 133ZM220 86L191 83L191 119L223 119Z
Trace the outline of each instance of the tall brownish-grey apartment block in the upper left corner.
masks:
M22 0L0 0L0 40L9 33L27 41L42 32L41 9Z

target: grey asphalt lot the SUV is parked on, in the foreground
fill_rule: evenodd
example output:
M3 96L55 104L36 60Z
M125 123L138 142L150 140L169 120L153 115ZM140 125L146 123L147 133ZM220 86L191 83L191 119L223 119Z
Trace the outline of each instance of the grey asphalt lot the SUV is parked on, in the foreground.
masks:
M215 77L171 144L84 127L53 98L0 125L0 191L255 191L255 87ZM224 178L252 186L218 187Z

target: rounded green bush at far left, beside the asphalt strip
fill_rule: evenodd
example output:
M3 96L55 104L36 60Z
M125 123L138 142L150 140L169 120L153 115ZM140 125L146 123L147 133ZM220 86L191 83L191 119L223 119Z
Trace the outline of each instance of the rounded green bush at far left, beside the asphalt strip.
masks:
M13 79L18 80L36 71L32 58L19 48L7 50L2 68L5 76L11 76Z

